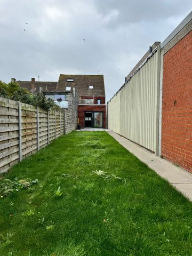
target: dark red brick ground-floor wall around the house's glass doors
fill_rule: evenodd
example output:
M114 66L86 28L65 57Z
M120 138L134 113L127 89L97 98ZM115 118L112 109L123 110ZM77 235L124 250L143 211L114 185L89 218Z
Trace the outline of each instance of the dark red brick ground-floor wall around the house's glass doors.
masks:
M85 111L103 111L103 128L106 127L106 105L78 105L79 124L85 126Z

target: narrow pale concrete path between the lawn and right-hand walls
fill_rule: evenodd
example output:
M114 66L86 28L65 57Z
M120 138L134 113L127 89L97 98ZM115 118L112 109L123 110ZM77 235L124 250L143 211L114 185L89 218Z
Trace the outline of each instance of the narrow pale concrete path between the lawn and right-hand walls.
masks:
M147 149L140 147L115 132L108 131L108 133L124 148L137 156L143 163L146 163L151 169L158 173L162 178L169 181L173 187L192 201L192 174L159 156L155 156Z

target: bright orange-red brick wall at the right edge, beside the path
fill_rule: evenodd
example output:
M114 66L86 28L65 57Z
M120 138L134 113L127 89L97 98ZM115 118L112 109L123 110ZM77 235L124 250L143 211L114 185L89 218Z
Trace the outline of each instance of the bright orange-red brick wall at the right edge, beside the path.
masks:
M164 55L162 156L192 172L192 31Z

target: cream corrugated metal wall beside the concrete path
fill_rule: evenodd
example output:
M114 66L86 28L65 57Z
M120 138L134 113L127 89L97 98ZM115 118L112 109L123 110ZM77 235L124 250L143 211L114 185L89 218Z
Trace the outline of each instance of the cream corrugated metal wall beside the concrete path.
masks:
M158 154L160 49L155 49L108 104L108 129Z

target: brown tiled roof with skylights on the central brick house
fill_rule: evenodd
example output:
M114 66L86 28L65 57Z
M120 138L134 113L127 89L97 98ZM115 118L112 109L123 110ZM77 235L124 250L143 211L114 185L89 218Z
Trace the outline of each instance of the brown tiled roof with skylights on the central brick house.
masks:
M74 79L73 82L68 82L67 79ZM89 85L93 85L93 89L89 89ZM104 96L105 84L103 75L60 75L57 91L65 92L66 87L76 88L79 96Z

